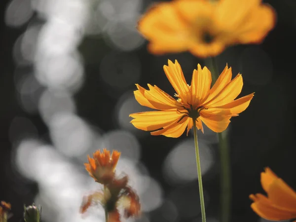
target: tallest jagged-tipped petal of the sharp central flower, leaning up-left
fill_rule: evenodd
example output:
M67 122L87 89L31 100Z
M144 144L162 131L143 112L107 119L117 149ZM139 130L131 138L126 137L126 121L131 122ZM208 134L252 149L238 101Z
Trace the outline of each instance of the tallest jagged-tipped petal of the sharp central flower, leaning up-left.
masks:
M170 83L182 99L182 102L187 103L191 98L191 94L178 61L175 60L174 64L171 60L168 60L168 66L163 66L163 69Z

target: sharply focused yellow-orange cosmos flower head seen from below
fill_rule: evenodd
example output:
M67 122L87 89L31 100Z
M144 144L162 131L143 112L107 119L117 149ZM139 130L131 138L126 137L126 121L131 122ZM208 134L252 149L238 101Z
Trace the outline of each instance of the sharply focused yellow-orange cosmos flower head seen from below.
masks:
M254 93L234 100L241 92L243 78L238 74L231 80L231 68L227 65L211 88L211 72L198 64L193 71L191 86L187 85L181 66L170 60L164 66L164 72L176 90L175 100L159 89L148 84L149 90L137 85L134 91L136 100L142 105L158 111L130 114L131 123L138 129L153 131L151 135L180 137L185 128L188 131L196 123L197 129L203 131L202 122L214 132L222 132L232 116L247 109Z

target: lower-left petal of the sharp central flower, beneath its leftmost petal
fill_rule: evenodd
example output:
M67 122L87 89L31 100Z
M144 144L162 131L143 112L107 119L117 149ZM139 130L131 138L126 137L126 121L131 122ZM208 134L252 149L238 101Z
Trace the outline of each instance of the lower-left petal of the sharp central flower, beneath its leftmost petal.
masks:
M186 126L188 125L188 119L189 118L185 116L180 122L173 122L161 130L151 132L151 135L163 135L166 137L178 138L184 133Z

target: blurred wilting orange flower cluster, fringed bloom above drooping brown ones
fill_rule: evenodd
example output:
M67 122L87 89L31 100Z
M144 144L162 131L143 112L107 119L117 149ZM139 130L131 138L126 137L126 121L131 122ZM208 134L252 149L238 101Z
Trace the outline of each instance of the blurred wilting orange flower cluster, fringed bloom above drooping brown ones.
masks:
M107 149L97 150L94 158L88 156L89 163L85 163L86 170L99 183L104 185L102 191L93 192L83 198L80 213L84 214L92 205L101 204L104 207L107 222L120 222L118 209L123 209L124 217L140 215L141 205L136 191L128 186L128 176L117 178L115 167L120 152L113 150L112 155Z

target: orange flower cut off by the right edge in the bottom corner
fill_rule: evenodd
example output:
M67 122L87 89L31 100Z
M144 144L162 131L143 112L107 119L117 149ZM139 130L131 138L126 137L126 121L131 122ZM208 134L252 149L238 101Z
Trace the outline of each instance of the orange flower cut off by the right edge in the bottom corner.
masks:
M254 201L251 207L261 218L272 221L296 218L296 192L268 167L261 173L261 185L267 197L260 193L250 195Z

